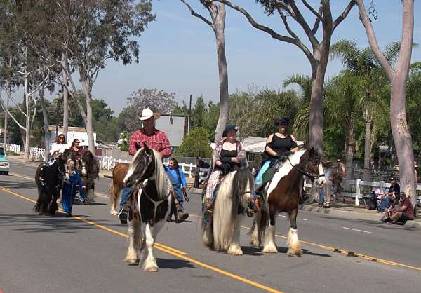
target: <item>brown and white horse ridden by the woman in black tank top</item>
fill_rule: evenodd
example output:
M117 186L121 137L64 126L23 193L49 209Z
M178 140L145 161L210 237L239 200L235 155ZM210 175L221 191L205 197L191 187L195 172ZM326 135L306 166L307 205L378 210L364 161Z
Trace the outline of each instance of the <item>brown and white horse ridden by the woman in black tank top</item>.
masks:
M296 151L295 154L286 158L286 161L275 172L272 181L265 186L264 196L261 198L262 203L260 203L261 209L256 214L249 232L250 243L253 246L260 246L264 238L263 252L278 252L275 244L276 216L279 212L287 212L290 222L287 254L290 257L302 256L297 233L297 214L304 177L308 177L312 182L316 180L316 185L320 187L326 182L321 155L313 147Z

